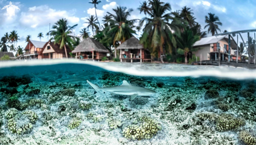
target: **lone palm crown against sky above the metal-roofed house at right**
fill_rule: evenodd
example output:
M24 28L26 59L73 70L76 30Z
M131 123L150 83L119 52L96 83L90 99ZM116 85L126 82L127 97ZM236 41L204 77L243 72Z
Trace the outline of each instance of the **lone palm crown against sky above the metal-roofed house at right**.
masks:
M215 16L215 14L212 14L212 13L208 13L208 15L209 17L205 16L205 22L208 23L205 26L205 28L209 27L208 33L211 32L214 35L216 32L216 34L218 34L217 30L220 31L219 26L222 26L222 23L219 21L219 17Z

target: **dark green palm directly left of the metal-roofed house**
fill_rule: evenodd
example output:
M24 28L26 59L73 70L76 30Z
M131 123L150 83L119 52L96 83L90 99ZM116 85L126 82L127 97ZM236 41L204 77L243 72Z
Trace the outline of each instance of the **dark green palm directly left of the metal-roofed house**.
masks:
M178 53L184 54L185 64L187 64L187 54L188 52L195 51L192 49L193 44L200 40L199 35L194 35L192 29L186 27L184 32L181 33L181 37L177 39L177 44L179 46ZM198 50L198 49L196 49Z

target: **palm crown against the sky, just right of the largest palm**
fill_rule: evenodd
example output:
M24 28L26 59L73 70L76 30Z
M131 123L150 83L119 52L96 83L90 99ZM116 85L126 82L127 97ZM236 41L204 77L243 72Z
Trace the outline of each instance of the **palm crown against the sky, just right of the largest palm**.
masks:
M193 17L194 13L192 13L191 8L187 8L186 6L182 8L181 10L181 18L186 20L188 22L188 25L190 27L195 26L195 18Z

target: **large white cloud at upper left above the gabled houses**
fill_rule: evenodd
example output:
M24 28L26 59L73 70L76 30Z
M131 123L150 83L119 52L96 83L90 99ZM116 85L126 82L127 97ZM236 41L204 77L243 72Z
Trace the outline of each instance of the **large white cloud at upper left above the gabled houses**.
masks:
M75 10L73 10L75 11ZM30 26L31 28L37 28L40 26L49 25L49 23L54 23L59 19L66 18L69 23L79 22L79 18L73 16L68 11L65 10L55 10L47 5L34 6L28 8L27 12L22 12L20 16L20 23L25 26Z

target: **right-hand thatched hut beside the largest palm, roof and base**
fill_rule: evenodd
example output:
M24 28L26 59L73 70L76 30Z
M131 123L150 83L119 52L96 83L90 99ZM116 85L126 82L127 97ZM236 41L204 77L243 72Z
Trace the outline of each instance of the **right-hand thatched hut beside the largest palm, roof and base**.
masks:
M119 58L121 62L151 61L150 52L144 49L143 45L140 44L139 40L135 37L131 37L119 45L117 50L120 50Z

